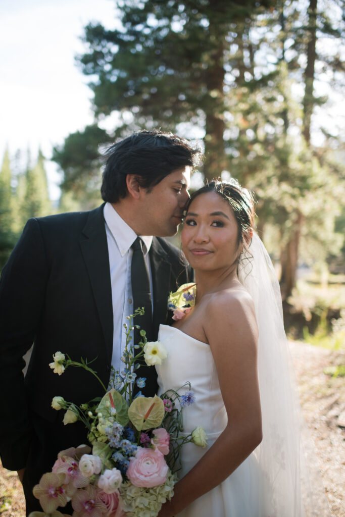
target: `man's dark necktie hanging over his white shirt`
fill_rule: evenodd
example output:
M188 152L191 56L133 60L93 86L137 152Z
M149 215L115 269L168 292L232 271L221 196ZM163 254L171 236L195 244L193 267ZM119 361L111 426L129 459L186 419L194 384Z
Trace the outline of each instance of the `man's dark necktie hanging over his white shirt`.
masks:
M131 283L133 310L143 307L145 314L143 316L136 316L133 323L134 325L140 325L141 329L146 330L146 338L149 341L152 326L151 288L142 244L141 238L137 237L131 246L133 250ZM139 343L139 341L141 341L140 330L134 329L134 344Z

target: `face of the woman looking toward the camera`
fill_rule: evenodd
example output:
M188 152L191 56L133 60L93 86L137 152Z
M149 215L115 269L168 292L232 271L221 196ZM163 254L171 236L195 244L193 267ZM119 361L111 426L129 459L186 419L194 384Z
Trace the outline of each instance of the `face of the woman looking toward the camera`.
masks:
M238 226L229 203L216 192L200 194L188 208L182 249L194 269L215 270L233 265L242 251Z

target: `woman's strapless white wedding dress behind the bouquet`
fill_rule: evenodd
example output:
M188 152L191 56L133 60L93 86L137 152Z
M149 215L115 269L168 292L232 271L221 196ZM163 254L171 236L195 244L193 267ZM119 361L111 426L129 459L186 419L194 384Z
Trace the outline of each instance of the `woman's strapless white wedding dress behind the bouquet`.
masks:
M160 325L158 339L168 351L168 358L156 365L159 394L177 390L189 381L195 401L183 410L184 433L190 434L200 425L208 436L207 448L193 443L183 446L182 469L177 473L181 479L224 430L227 413L209 345L167 325ZM205 473L206 479L209 475ZM193 501L178 517L266 517L260 508L259 481L259 465L252 453L226 480Z

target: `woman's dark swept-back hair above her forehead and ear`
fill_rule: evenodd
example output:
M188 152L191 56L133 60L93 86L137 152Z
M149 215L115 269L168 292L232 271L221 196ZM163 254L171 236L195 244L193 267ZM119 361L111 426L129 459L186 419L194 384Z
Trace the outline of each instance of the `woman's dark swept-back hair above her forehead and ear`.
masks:
M185 213L187 214L190 204L198 195L207 194L208 192L216 192L224 201L229 203L234 211L238 226L237 246L243 244L243 247L248 250L255 216L255 201L252 193L241 187L235 179L232 179L229 183L210 181L207 185L191 194L185 207Z

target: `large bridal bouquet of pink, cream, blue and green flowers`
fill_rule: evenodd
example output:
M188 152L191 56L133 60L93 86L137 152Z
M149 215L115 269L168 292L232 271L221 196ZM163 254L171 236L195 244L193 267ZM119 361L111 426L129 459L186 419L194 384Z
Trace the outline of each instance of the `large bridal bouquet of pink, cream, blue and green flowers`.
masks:
M52 472L43 474L33 489L44 513L32 512L29 517L63 516L57 508L68 501L75 517L155 517L173 495L182 445L207 445L200 427L188 436L179 436L183 407L194 400L189 383L161 397L143 397L139 392L132 398L134 383L143 388L146 381L135 373L138 359L143 357L148 366L153 366L167 358L159 341L147 342L144 330L140 330L141 342L131 344L137 314L143 314L143 309L127 316L126 347L121 358L124 369L112 372L108 390L90 368L91 362L76 362L61 352L54 354L49 365L54 373L62 375L70 366L84 368L98 378L105 393L101 399L80 406L62 397L53 398L54 409L66 410L65 424L77 420L85 423L91 447L80 445L59 452Z

